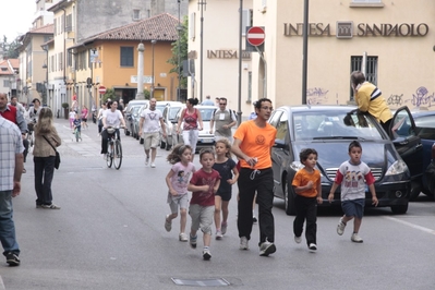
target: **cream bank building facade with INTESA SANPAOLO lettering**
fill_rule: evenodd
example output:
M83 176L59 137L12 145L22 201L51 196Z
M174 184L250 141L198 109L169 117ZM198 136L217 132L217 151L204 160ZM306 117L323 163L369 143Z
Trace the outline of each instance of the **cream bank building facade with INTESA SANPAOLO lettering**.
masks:
M245 3L250 1L207 1L203 12L203 94L225 95L230 104L238 98L238 69L231 67L234 63L228 51L238 47L239 2L250 8ZM189 13L190 21L196 16L189 49L197 52L197 1L190 1ZM352 104L350 73L362 70L379 87L391 109L402 105L433 108L434 13L432 0L309 1L306 102ZM264 27L265 43L263 53L251 52L251 61L243 61L243 116L252 111L246 104L263 96L270 98L275 107L301 105L304 1L253 0L251 15L253 26ZM221 58L206 55L219 49L227 51ZM195 69L198 80L201 71L197 65Z

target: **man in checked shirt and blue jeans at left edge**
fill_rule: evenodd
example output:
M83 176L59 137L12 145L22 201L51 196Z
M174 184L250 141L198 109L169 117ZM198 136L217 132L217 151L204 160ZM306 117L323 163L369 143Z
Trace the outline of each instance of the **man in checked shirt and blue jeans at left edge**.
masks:
M10 266L20 265L12 197L21 192L23 172L23 141L16 124L0 117L0 241Z

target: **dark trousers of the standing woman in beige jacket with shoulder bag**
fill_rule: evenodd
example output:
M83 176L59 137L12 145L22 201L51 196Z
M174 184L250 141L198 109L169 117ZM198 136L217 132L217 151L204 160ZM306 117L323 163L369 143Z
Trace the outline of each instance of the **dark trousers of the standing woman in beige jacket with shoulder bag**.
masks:
M51 181L55 176L55 156L33 158L37 205L50 205L52 202Z

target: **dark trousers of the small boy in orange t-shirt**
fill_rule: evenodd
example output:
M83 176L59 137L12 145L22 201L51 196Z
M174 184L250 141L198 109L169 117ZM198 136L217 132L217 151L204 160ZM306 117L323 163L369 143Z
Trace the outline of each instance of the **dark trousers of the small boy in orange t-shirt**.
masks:
M306 220L305 239L306 244L316 244L317 233L317 200L316 197L305 197L297 195L294 198L297 216L293 221L293 233L301 237L303 232L303 222Z

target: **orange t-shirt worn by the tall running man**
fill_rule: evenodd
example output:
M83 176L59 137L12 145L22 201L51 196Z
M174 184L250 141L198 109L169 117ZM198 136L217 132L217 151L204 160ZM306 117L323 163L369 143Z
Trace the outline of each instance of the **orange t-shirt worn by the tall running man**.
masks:
M246 121L240 124L234 133L234 138L240 140L240 149L250 157L256 157L257 164L253 169L265 169L271 167L270 148L275 144L277 130L266 123L259 128L255 121ZM245 160L240 160L242 168L251 168Z

